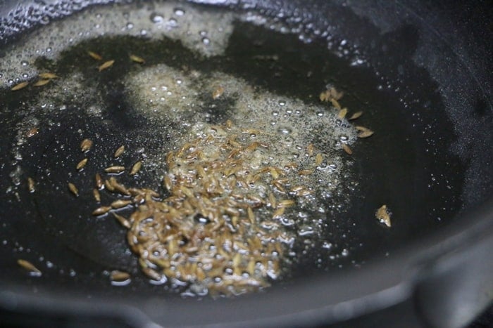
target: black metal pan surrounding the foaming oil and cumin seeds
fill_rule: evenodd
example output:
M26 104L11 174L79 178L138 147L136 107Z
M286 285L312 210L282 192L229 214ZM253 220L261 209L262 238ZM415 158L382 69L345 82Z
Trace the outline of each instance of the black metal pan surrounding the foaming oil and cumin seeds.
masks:
M8 2L4 5L0 29L4 44L18 39L20 25L36 27L34 20L25 19L37 12L32 8L54 8L45 13L51 18L81 9L80 4L77 8L22 4L16 9ZM210 5L200 6L206 10ZM126 140L129 149L137 149L139 138L147 137L139 135L142 121L129 114L132 108L124 100L120 81L127 68L116 67L96 81L106 93L110 124L83 116L75 103L58 117L63 124L22 147L22 156L29 159L24 177L34 177L45 190L34 197L25 189L18 197L4 190L11 183L5 159L11 158L15 139L12 111L36 94L13 96L4 89L0 93L1 315L18 323L25 322L28 313L31 323L46 322L46 327L73 322L101 327L151 322L164 326L362 323L356 320L366 324L389 320L392 325L392 320L396 324L403 318L410 326L467 324L493 295L491 8L480 9L488 7L487 1L485 6L451 8L420 1L224 1L220 6L277 15L312 40L305 43L294 34L236 22L225 55L207 62L168 39L158 44L136 37L101 37L69 48L57 63L39 58L36 65L46 69L56 65L63 72L83 65L75 63L74 54L97 44L114 55L138 49L151 65L180 67L186 61L205 72L220 70L307 103L315 103L313 95L327 83L342 88L345 105L365 107L361 120L377 133L355 146L352 160L360 184L351 195L354 206L324 232L334 247L313 249L288 279L260 294L183 299L166 287L153 286L139 276L137 259L125 244L125 230L113 221L94 225L84 214L92 209L89 195L73 202L70 194L49 188L65 184L72 168L65 159L75 156L72 150L60 152L54 145L78 145L79 129L108 140L96 150L101 152L96 154L100 166L106 163L105 154L118 147L116 140ZM355 54L366 65L354 65ZM259 63L251 59L255 55L280 59ZM222 119L220 114L216 119ZM155 140L146 147L157 149L163 142ZM78 148L73 147L73 152ZM135 162L135 158L126 160ZM44 174L46 169L51 175ZM144 179L154 173L148 172ZM392 204L395 221L389 230L373 218L380 204ZM343 249L349 256L331 256ZM30 277L16 265L18 258L42 261L50 270L44 270L42 277ZM112 268L128 270L137 278L130 286L113 287L104 275Z

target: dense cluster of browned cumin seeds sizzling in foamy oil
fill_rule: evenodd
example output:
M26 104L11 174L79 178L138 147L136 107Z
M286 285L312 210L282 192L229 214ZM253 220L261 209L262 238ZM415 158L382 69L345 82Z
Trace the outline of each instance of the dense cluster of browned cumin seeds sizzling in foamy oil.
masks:
M294 240L294 232L280 220L312 194L297 183L322 161L308 145L312 170L293 162L269 166L261 160L268 147L261 135L230 121L206 125L194 140L168 153L167 197L126 188L111 176L98 186L127 199L100 206L93 214L113 212L128 229L127 242L152 280L177 280L213 295L266 287L282 274ZM134 206L128 218L115 213L128 205Z

